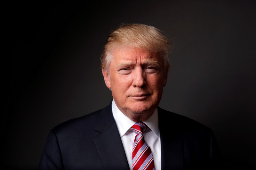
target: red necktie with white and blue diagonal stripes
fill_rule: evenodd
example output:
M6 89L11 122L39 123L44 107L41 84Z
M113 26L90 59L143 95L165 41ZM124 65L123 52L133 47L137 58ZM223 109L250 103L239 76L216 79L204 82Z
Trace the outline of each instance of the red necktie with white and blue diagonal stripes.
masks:
M147 128L143 122L137 122L130 128L136 133L132 148L132 170L155 170L151 149L142 134Z

